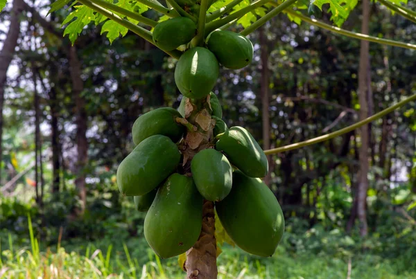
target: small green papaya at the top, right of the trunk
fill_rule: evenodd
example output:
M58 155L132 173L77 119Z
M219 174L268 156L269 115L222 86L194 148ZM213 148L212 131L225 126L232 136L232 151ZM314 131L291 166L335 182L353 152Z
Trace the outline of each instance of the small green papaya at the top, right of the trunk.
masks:
M250 39L227 30L214 30L207 37L207 48L218 62L228 69L241 69L253 60L253 45Z

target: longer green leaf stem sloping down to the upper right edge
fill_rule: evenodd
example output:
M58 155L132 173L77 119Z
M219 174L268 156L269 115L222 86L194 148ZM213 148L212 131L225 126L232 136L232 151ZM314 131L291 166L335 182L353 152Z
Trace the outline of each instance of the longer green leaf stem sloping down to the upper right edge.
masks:
M277 6L277 4L275 4L274 2L270 2L270 4L272 6ZM363 40L368 41L368 42L374 42L374 43L378 43L378 44L386 44L388 46L398 46L399 48L408 48L408 49L416 50L416 45L415 44L408 44L408 43L404 43L404 42L393 41L392 39L382 39L382 38L378 38L378 37L372 37L372 36L369 36L369 35L364 35L364 34L361 34L361 33L354 33L354 32L351 32L351 31L347 31L347 30L338 28L336 26L331 26L329 24L324 24L323 22L318 21L316 19L311 19L310 17L305 17L300 12L295 12L294 10L290 10L290 9L286 9L285 12L287 12L289 15L293 15L294 17L299 17L300 19L302 19L303 21L305 21L309 24L318 26L320 28L324 28L324 29L329 30L333 33L337 33L337 34L344 35L344 36L347 36L347 37L352 37L352 38L355 38L355 39L363 39Z

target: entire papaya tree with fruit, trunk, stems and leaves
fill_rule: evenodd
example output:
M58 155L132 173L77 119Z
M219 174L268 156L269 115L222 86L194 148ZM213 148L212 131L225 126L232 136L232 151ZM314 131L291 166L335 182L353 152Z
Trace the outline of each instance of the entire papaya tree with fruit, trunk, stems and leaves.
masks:
M397 0L381 5L416 22L416 12ZM401 1L406 2L406 1ZM62 24L75 42L83 28L101 25L110 42L132 31L177 60L177 109L154 109L132 127L134 150L120 163L116 181L137 210L147 212L144 235L161 258L180 256L187 278L216 278L218 243L224 241L268 257L284 234L279 203L261 180L266 154L327 141L415 101L410 96L388 109L336 132L302 143L261 150L244 127L227 127L212 92L220 67L242 69L252 62L248 35L283 13L297 24L327 29L353 39L409 48L416 45L353 33L340 28L358 0L58 0L50 12L73 11ZM0 2L1 5L1 2ZM309 17L331 13L336 26ZM152 10L152 13L148 11ZM146 17L145 15L151 15ZM242 26L240 33L227 30Z

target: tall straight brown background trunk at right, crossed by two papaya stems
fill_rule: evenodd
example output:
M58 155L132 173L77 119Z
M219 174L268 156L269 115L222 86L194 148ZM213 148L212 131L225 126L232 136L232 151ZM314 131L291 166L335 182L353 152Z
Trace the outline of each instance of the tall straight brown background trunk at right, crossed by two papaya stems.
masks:
M361 24L361 33L368 34L368 22L370 19L370 1L363 0L363 22ZM362 40L360 49L360 66L358 70L358 95L360 102L360 120L368 116L367 91L370 87L368 78L368 56L369 43ZM360 156L360 172L358 178L358 193L357 193L357 215L360 221L360 235L365 236L368 233L367 226L367 189L368 189L368 126L361 127L361 147L359 150Z

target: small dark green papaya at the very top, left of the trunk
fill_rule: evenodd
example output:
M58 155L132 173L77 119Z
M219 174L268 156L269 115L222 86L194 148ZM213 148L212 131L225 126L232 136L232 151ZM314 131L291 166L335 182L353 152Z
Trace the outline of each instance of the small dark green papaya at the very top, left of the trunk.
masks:
M153 42L164 51L172 51L182 44L191 42L195 35L195 22L188 17L175 17L162 21L155 26Z

